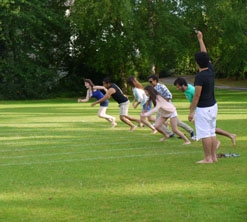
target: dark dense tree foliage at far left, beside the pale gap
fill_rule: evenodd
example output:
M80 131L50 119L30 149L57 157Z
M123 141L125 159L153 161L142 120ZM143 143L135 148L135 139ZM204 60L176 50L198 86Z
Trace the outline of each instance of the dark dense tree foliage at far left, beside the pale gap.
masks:
M0 11L0 96L42 98L68 54L64 1L5 0Z

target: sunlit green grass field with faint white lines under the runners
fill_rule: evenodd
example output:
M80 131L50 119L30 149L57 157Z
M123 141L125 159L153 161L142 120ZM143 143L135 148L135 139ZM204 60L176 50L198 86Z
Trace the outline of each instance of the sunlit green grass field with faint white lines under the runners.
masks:
M189 103L171 91L188 122ZM111 129L77 98L0 102L0 221L247 221L247 91L216 97L218 127L237 134L236 148L218 136L218 152L241 156L215 164L195 163L201 142L161 143L119 120Z

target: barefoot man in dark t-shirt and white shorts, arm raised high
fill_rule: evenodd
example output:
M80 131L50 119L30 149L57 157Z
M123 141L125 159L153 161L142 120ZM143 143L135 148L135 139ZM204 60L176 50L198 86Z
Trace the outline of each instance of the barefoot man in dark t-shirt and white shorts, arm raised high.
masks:
M218 161L215 134L218 106L214 95L214 70L200 31L197 32L197 38L200 52L195 54L195 60L199 73L195 77L195 94L190 106L188 120L192 121L195 118L197 139L202 139L204 159L197 163L213 163Z

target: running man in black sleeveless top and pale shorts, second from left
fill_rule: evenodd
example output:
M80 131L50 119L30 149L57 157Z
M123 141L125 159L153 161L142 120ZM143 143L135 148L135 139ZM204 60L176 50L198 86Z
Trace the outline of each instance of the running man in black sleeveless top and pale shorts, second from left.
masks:
M92 103L92 106L95 106L98 103L102 103L105 100L108 100L110 99L110 97L112 97L119 104L120 120L130 126L130 131L134 131L137 127L131 121L137 122L139 126L141 126L142 123L139 119L128 116L130 101L128 97L126 97L123 94L122 90L116 84L112 83L109 78L105 78L103 80L103 86L107 88L107 92L105 96L97 100L96 102Z

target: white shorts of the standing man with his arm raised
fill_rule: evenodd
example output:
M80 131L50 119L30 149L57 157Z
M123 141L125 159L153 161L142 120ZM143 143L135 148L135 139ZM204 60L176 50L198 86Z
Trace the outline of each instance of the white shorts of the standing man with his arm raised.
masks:
M197 140L215 136L217 113L217 103L210 107L196 107L195 127Z

